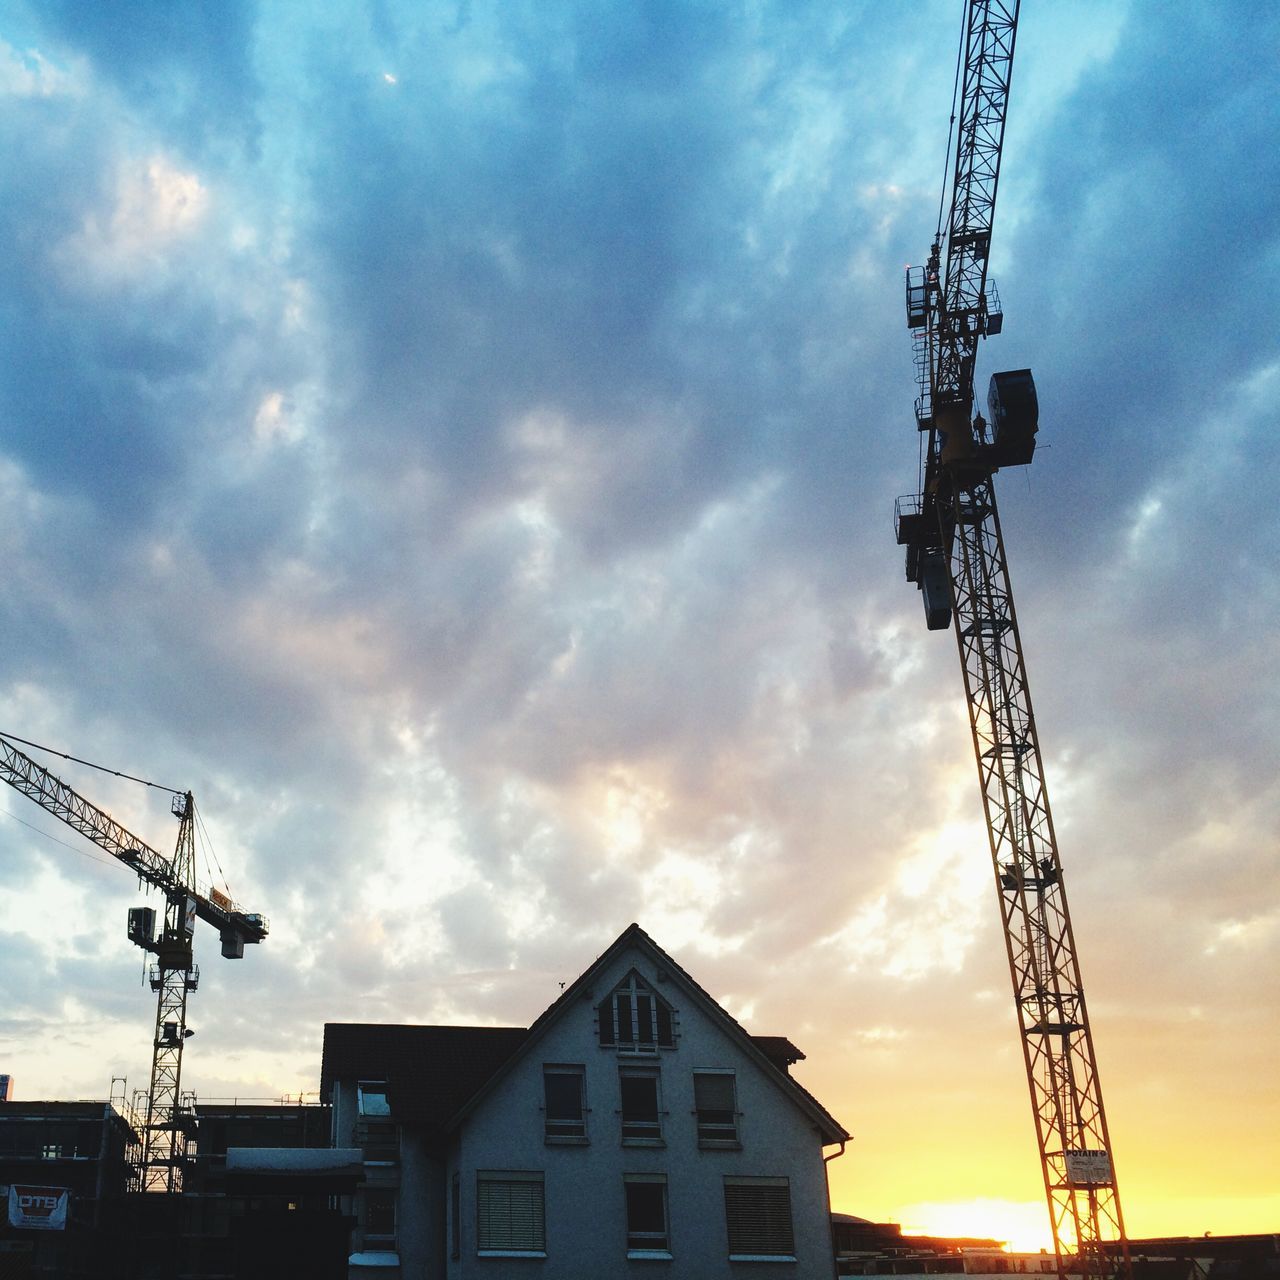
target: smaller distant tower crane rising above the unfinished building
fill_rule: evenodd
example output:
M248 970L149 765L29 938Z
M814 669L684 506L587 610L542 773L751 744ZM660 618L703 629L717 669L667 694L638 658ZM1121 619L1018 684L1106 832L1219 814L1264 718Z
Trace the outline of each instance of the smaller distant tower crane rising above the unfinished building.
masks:
M155 956L148 977L151 989L157 993L142 1185L148 1192L180 1192L183 1117L178 1103L182 1048L192 1034L187 1028L187 996L200 984L200 966L192 956L196 920L218 929L221 952L229 960L242 959L247 942L261 942L268 934L268 922L262 915L242 910L216 888L204 893L197 887L196 801L189 791L173 792L170 808L178 819L178 841L173 856L166 858L54 777L4 735L0 735L0 778L124 863L143 884L164 895L160 933L156 934L155 909L136 906L129 910L128 936L131 942Z

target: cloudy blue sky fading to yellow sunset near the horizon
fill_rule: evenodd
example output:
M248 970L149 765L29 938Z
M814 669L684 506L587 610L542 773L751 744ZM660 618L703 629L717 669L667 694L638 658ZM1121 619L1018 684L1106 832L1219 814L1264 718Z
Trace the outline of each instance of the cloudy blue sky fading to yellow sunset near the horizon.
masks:
M960 5L13 0L0 731L191 788L183 1083L530 1023L632 920L1047 1239L954 641L895 545ZM1132 1234L1280 1229L1280 42L1028 4L978 381ZM41 756L145 840L168 797ZM0 1070L145 1085L116 863L0 797Z

